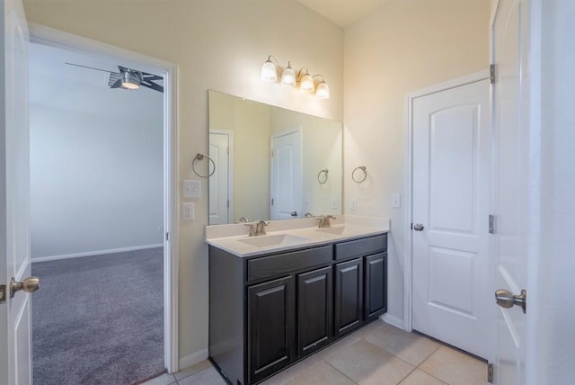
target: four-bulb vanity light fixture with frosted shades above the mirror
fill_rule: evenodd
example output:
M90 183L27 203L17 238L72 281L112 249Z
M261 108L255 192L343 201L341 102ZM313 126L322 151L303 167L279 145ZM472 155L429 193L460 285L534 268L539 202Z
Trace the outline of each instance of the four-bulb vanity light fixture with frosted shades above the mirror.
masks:
M291 67L290 61L288 61L288 67L282 69L282 67L279 66L278 60L272 55L268 57L268 59L265 61L265 63L263 63L263 66L261 67L261 81L265 83L277 82L278 71L281 74L279 80L281 85L295 87L299 83L298 88L302 93L312 94L315 91L315 97L318 99L330 98L330 87L325 82L323 75L318 74L311 76L307 67L301 67L296 75L296 71ZM317 88L315 88L314 81L316 76L322 76L322 81L319 85L317 85Z

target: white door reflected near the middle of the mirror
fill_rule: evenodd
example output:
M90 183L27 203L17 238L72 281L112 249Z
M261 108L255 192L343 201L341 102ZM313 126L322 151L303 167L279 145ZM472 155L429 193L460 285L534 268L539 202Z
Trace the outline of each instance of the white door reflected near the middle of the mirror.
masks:
M271 219L302 217L302 130L271 137Z

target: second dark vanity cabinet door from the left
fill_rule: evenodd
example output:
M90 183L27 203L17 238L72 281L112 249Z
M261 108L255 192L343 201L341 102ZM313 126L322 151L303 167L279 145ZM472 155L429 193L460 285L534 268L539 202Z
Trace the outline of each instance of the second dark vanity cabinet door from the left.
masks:
M297 275L297 350L311 354L333 338L332 266Z

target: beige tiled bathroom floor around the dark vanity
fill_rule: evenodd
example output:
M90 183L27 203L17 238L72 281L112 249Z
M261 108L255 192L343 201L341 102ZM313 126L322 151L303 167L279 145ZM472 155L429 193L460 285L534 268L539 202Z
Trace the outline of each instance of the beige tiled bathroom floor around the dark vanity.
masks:
M143 385L226 385L203 361ZM376 321L262 385L486 385L487 364Z

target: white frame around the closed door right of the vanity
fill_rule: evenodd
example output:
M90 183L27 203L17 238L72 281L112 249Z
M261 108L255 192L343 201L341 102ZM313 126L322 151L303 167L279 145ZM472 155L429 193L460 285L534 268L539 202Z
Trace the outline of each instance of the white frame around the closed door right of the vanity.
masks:
M405 231L405 243L403 254L403 330L411 332L412 322L412 205L413 205L413 102L416 98L427 96L429 94L436 94L441 91L446 91L461 85L468 85L471 83L480 82L489 79L487 71L475 72L468 76L456 77L455 79L448 80L444 83L431 85L417 91L413 91L406 95L405 98L405 223L403 231ZM487 219L485 219L487 220ZM485 222L487 223L487 222ZM491 360L491 357L488 357Z

